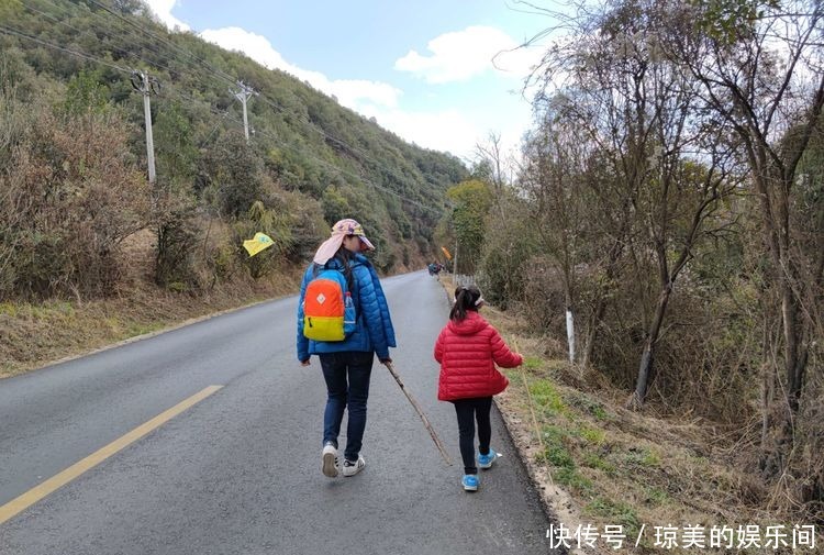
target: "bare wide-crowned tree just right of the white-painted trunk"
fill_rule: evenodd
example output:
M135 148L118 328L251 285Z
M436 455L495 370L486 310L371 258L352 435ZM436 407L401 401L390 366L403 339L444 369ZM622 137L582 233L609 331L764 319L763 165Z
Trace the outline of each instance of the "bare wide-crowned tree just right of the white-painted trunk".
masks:
M734 186L728 149L716 147L717 132L702 119L695 85L659 45L689 32L689 22L670 8L615 2L599 13L581 11L566 20L574 32L547 52L541 76L545 92L566 98L565 116L611 160L612 179L600 187L615 221L609 273L614 276L622 254L630 254L638 295L646 297L646 268L657 268L657 299L638 303L645 333L628 401L636 407L653 376L673 284L710 231L717 201Z

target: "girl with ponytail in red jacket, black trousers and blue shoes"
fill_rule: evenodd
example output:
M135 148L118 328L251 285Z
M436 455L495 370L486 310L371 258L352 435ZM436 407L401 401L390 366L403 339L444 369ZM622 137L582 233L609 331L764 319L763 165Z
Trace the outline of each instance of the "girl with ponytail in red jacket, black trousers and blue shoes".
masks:
M437 398L455 404L458 418L460 457L464 459L461 485L477 491L478 467L490 468L500 456L489 446L492 426L489 412L492 396L509 385L498 368L514 368L524 357L506 346L501 334L479 313L483 298L477 287L455 289L449 322L435 342L435 360L441 363ZM475 423L478 423L478 458L475 456Z

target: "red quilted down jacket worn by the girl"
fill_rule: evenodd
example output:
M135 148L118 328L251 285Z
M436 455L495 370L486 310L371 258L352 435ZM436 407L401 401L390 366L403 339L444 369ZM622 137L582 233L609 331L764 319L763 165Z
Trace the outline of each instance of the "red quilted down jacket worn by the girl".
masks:
M500 393L509 380L498 371L495 363L514 368L524 358L510 351L498 330L483 317L470 310L464 320L449 320L441 330L435 342L435 360L441 363L437 398L454 401Z

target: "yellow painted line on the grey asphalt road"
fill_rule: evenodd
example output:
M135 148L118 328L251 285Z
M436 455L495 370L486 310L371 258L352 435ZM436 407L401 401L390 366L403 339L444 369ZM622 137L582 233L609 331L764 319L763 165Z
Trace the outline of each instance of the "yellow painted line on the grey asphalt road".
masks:
M29 507L33 506L44 497L53 493L58 488L62 488L69 481L74 480L85 471L93 468L94 466L99 465L110 456L114 455L119 451L123 449L124 447L127 447L132 443L136 442L147 433L152 432L153 430L162 426L172 418L177 417L181 412L183 412L186 409L189 409L193 407L194 404L199 403L210 395L214 393L219 389L221 389L223 386L209 386L208 388L203 389L202 391L194 393L193 396L189 397L188 399L177 403L175 407L162 412L157 417L153 418L148 422L145 422L141 424L140 426L135 428L127 434L123 435L122 437L119 437L118 440L114 440L112 443L107 445L105 447L102 447L88 457L83 458L82 460L79 460L75 463L74 465L69 466L65 470L60 471L59 474L56 474L55 476L48 478L44 482L40 484L38 486L35 486L34 488L30 489L22 496L12 499L4 506L0 507L0 524L8 521L15 514L24 511Z

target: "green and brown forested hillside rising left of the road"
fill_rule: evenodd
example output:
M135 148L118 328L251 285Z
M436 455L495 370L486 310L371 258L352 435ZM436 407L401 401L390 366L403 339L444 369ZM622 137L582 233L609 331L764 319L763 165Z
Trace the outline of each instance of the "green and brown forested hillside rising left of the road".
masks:
M135 236L154 245L156 284L190 292L302 264L344 217L365 225L385 271L434 251L445 191L466 174L454 156L169 33L136 0L0 7L0 297L109 295ZM275 247L248 258L242 241L258 231Z

